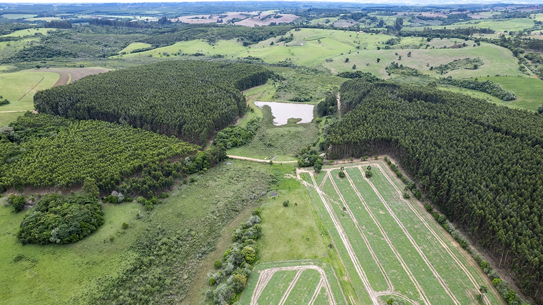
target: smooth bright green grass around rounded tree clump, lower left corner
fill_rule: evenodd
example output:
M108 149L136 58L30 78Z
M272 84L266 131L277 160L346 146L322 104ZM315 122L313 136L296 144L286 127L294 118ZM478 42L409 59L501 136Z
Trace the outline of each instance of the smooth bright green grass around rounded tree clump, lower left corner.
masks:
M0 206L0 298L9 304L77 303L76 296L97 285L96 279L116 274L130 262L128 246L143 225L136 221L138 204L104 205L105 224L70 245L21 245L15 234L25 211ZM130 225L123 230L121 225ZM110 242L109 237L115 236ZM17 255L27 259L13 262Z

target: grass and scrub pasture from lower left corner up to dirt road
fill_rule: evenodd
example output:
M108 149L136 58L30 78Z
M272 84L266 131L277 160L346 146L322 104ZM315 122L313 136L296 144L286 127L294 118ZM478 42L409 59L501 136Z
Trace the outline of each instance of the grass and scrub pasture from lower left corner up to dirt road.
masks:
M236 219L235 216L245 207L252 211L256 202L249 200L249 195L265 192L274 171L279 175L277 180L281 181L282 168L238 160L220 164L198 176L197 182L175 189L166 204L157 206L151 213L143 212L143 207L135 202L105 204L105 224L90 236L70 245L21 245L15 234L31 209L15 214L11 207L0 205L0 231L3 232L0 238L3 249L0 274L4 275L0 278L2 304L91 303L98 291L112 283L111 279L125 275L125 268L141 255L136 251L138 245L143 240L150 242L146 240L146 234L157 227L167 230L163 238L172 239L178 238L176 234L185 230L194 230L193 237L198 243L184 247L188 252L178 262L164 263L168 268L179 264L175 266L179 282L191 281L195 273L206 274L207 269L197 272L203 266L197 253L204 251L203 247L213 249L223 234L226 240L230 240L231 231L222 231L222 228ZM0 201L4 203L5 198ZM199 204L194 205L194 202ZM144 217L137 219L140 210ZM124 222L129 224L126 230L121 226ZM238 222L236 226L239 226ZM110 241L111 236L115 237L113 242ZM17 255L23 255L24 259L14 262ZM165 270L165 266L161 270ZM176 288L179 289L175 292L176 297L184 296L186 287L183 284ZM117 289L121 289L120 286ZM201 293L197 298L201 298ZM198 303L198 300L193 303Z

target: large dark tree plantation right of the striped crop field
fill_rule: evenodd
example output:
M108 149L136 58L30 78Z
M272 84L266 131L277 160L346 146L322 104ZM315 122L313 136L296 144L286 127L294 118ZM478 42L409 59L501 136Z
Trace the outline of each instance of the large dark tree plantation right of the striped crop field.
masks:
M543 116L435 87L349 80L327 157L387 154L543 300Z

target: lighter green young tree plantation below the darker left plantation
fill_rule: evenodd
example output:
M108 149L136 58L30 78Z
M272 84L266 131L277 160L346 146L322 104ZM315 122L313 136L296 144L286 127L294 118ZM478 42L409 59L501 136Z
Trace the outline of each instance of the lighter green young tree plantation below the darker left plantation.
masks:
M182 173L198 170L195 156L188 157L197 147L177 138L129 125L45 114L27 113L1 128L0 148L2 191L26 186L65 189L91 178L102 192L118 189L152 196L173 186ZM171 163L173 157L188 158ZM141 177L132 176L139 172Z

